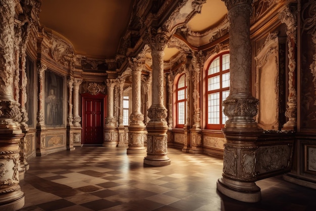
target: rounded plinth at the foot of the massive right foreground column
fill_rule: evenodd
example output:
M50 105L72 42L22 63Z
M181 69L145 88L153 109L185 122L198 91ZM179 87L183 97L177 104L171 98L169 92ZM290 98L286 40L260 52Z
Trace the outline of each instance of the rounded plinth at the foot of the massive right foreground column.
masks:
M217 181L217 189L224 195L243 202L258 202L261 199L260 188L254 182L239 182L227 178Z

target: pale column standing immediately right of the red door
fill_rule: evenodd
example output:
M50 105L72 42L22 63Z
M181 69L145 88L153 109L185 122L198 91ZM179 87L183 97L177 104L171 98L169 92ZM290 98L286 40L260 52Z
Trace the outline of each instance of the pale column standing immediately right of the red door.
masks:
M116 85L115 79L107 79L106 81L108 89L108 116L106 118L106 125L104 126L104 141L103 147L117 147L119 144L117 120L114 117L114 87Z

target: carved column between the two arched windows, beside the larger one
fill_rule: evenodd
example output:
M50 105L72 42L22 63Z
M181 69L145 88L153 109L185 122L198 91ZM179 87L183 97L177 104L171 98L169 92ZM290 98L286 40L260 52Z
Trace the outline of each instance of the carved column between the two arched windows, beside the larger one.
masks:
M193 125L191 131L191 153L202 153L202 129L200 118L200 74L201 55L193 55L191 59L192 68L192 98L193 98Z

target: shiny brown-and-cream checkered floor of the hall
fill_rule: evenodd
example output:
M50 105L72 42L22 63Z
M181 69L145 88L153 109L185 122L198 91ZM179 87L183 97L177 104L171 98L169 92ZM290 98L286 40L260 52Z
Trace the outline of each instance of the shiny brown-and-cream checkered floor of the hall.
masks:
M223 160L168 149L171 165L144 167L146 154L79 147L29 161L21 210L316 210L316 190L274 177L257 182L262 200L244 203L216 189Z

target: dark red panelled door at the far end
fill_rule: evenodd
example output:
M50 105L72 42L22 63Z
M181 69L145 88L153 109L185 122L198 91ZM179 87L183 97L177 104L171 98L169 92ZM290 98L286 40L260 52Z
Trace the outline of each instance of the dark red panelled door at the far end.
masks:
M104 98L83 97L83 144L103 143Z

